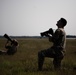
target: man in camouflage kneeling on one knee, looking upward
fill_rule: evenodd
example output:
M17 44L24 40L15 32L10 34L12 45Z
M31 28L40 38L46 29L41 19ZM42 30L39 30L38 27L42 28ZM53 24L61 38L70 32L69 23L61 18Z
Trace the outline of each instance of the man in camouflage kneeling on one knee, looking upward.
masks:
M53 42L53 46L38 52L39 71L42 70L45 57L53 58L53 65L55 70L61 69L61 61L65 55L66 33L64 31L64 27L66 26L66 24L67 21L64 18L60 18L60 20L57 21L56 24L58 28L52 34L52 36L45 34L45 36L49 36L49 41Z

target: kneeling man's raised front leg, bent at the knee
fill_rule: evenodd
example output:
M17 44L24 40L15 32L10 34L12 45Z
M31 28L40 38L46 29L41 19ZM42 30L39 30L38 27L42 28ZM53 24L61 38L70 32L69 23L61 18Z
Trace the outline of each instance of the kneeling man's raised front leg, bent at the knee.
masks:
M38 69L42 70L45 57L54 57L54 53L51 48L42 50L38 53Z

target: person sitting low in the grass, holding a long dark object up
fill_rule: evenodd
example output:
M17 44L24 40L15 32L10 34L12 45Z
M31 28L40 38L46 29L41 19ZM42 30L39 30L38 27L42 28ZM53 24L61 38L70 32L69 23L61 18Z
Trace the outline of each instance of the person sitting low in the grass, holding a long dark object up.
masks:
M17 52L17 47L18 47L17 40L14 39L13 42L11 42L11 44L9 43L9 40L7 40L5 44L5 48L7 49L7 51L1 50L0 55L2 54L13 55Z

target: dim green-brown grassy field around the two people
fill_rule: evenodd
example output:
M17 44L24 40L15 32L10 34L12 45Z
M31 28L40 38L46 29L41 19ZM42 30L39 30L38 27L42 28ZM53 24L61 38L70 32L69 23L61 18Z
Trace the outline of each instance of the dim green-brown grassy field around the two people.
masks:
M38 52L52 45L48 39L20 38L15 55L0 55L0 75L76 75L76 39L67 39L66 56L62 70L54 71L51 58L45 58L43 71L38 72ZM5 50L6 39L0 39L0 49Z

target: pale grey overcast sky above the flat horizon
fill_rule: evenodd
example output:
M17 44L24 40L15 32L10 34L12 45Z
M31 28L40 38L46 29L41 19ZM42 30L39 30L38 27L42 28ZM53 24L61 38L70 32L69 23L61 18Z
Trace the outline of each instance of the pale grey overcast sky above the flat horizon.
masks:
M76 35L76 0L0 0L0 35L40 35L61 17L67 35Z

